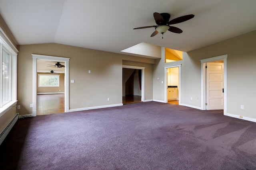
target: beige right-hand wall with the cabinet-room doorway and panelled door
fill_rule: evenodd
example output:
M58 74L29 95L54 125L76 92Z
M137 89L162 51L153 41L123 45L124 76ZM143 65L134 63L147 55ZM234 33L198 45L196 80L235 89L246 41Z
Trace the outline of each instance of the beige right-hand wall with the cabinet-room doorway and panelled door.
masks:
M183 54L183 61L157 60L153 70L153 98L164 100L164 66L181 63L181 103L201 107L201 59L228 55L227 113L256 119L256 31ZM160 78L157 80L156 78ZM193 100L190 100L190 97ZM198 99L196 99L198 97ZM240 106L244 105L244 109Z

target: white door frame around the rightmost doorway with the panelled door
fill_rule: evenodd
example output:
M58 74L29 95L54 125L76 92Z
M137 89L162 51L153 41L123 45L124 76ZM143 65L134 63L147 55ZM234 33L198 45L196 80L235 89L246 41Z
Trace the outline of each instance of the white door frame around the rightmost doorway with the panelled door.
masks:
M206 63L223 60L224 62L224 115L227 115L227 58L228 55L221 55L217 57L212 57L208 59L202 59L201 61L201 108L202 110L206 110Z

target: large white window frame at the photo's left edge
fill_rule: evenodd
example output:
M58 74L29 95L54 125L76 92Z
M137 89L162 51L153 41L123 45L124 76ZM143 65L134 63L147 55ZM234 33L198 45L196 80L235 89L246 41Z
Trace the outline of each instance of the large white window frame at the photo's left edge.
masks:
M0 117L17 104L17 54L18 50L0 28L0 74L2 75L2 50L10 54L9 102L2 104L2 76L0 78Z

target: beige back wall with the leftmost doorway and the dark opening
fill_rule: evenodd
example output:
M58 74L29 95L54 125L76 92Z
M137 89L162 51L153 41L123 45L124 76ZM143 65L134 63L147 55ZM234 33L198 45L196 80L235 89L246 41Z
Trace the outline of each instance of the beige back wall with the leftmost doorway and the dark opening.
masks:
M70 109L122 104L122 64L146 66L145 100L152 100L154 59L134 57L56 43L20 45L18 53L18 105L20 114L32 114L32 55L70 58ZM91 73L88 73L91 70ZM110 98L110 101L107 101Z

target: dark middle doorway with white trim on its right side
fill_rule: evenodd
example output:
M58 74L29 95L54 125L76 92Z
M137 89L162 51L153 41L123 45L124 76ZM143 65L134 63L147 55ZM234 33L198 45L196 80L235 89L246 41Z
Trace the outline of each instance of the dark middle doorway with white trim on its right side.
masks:
M144 102L144 67L123 65L122 103Z

